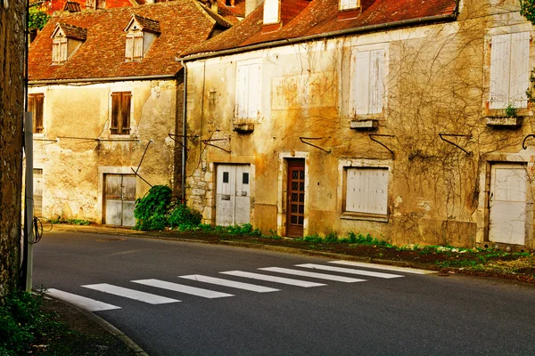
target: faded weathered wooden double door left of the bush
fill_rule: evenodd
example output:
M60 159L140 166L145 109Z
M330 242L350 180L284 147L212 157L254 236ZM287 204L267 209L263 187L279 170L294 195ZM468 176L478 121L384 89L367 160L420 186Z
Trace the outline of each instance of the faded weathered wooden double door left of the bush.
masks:
M106 174L104 189L104 223L134 226L136 218L136 175Z

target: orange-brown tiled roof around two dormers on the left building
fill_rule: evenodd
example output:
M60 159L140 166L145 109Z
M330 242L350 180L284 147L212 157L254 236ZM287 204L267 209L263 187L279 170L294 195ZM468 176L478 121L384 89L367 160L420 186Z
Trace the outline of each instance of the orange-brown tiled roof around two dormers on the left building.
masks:
M121 7L54 16L29 48L29 80L174 75L181 69L177 55L209 38L216 26L196 0ZM161 35L142 61L125 61L132 14L160 22ZM62 65L52 65L53 29L57 22L86 28L86 41ZM221 36L221 35L218 35Z

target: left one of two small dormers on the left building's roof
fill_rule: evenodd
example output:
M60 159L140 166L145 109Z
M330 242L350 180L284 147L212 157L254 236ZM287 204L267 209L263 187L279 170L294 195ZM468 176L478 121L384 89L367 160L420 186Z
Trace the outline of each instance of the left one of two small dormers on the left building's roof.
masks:
M86 40L86 28L57 23L52 33L52 64L65 63Z

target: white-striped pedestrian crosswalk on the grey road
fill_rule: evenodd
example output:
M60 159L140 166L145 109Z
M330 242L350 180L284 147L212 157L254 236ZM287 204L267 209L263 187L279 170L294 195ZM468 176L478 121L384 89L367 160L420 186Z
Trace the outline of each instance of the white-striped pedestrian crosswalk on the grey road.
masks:
M268 287L259 282L268 282L275 285L293 286L293 287L325 287L327 283L357 283L366 282L369 278L373 279L398 279L405 277L400 272L425 274L429 271L412 270L407 268L400 268L394 266L384 266L369 263L358 263L352 261L331 261L330 264L318 264L318 263L300 263L295 264L295 268L285 267L260 267L259 272L252 271L220 271L221 275L225 278L218 278L212 276L206 276L202 274L190 274L184 276L177 276L179 279L187 279L199 283L199 287L192 287L185 284L177 283L176 281L161 280L161 279L136 279L129 282L136 285L142 285L145 287L151 287L154 289L153 293L137 290L132 287L119 287L108 283L83 285L80 287L91 289L99 292L102 295L116 295L122 298L135 300L142 303L149 303L152 305L167 304L167 303L179 303L179 299L170 298L168 296L162 296L157 294L159 290L164 289L177 294L182 295L194 295L201 298L216 299L232 297L236 294L224 293L218 290L213 290L213 286L229 287L236 289L236 293L239 290L245 290L256 293L271 293L280 292L282 289L275 287ZM337 265L343 265L339 267ZM366 268L363 270L361 268ZM380 270L380 271L369 271ZM387 272L388 271L388 272ZM396 273L392 273L396 272ZM336 273L336 274L333 274ZM342 275L341 275L342 274ZM345 276L344 276L345 274ZM284 277L282 277L283 275ZM350 275L351 277L347 276ZM292 277L289 278L288 276ZM355 278L355 276L361 278ZM304 278L304 279L303 279ZM237 279L237 280L236 280ZM317 281L309 279L318 279ZM247 280L243 281L243 280ZM253 283L250 283L254 281ZM210 289L205 288L209 285ZM217 288L217 287L216 287ZM146 290L146 289L145 289ZM75 295L69 292L50 288L46 292L55 298L62 299L66 302L72 303L86 309L90 312L102 312L115 309L121 309L120 306L111 303L104 303L93 298L88 298L83 295ZM173 295L174 296L174 295ZM103 296L105 299L105 297Z

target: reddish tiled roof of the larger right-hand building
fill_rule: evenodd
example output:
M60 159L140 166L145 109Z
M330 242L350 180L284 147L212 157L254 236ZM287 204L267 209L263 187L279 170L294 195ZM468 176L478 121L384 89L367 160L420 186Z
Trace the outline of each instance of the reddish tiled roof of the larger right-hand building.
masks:
M338 4L339 0L313 0L282 28L268 33L262 33L264 6L261 5L235 27L210 41L190 48L182 55L217 52L249 44L321 35L350 28L371 28L374 25L453 15L457 12L457 0L375 0L374 4L357 17L338 20Z

